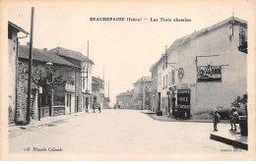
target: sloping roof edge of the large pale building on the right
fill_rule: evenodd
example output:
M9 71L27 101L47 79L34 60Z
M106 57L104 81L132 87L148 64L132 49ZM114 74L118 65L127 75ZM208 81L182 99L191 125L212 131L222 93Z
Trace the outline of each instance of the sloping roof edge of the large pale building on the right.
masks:
M184 44L184 43L186 43L186 42L188 42L188 41L190 41L190 40L192 40L192 39L194 39L194 38L197 38L197 37L202 36L202 35L204 35L204 34L210 32L210 31L216 30L216 29L218 29L218 28L220 28L220 27L224 27L225 25L227 25L227 24L232 24L232 23L233 23L233 24L240 25L240 26L243 26L243 27L247 27L247 22L246 22L246 21L240 20L240 19L235 18L235 17L230 17L230 18L228 18L228 19L226 19L226 20L224 20L224 21L222 21L222 22L220 22L220 23L218 23L218 24L216 24L216 25L214 25L214 26L205 27L205 28L203 28L203 29L200 29L200 30L198 30L198 31L195 31L195 32L193 32L193 33L190 33L190 34L188 34L188 35L185 35L185 36L183 36L183 37L180 37L180 38L176 39L176 40L167 48L167 52L170 53L170 52L174 51L178 46L180 46L180 45L182 45L182 44ZM162 54L162 55L163 55L163 54ZM156 65L159 65L159 63L160 63L160 61L161 61L161 59L162 59L162 55L161 55L161 57L160 57L160 59L159 59L159 61L157 62Z

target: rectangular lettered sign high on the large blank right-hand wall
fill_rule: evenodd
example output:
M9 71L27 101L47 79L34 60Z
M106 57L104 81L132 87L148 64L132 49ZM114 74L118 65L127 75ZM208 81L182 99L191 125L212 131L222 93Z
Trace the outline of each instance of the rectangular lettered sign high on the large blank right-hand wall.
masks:
M222 66L197 67L197 82L222 81Z

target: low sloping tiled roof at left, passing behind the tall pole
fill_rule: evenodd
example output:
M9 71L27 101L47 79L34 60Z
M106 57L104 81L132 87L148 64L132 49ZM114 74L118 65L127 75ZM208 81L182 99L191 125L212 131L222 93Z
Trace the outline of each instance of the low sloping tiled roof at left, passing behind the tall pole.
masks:
M26 45L19 45L19 58L29 59L30 47ZM51 62L53 64L77 67L76 65L68 62L67 60L57 56L57 55L49 55L44 53L42 50L37 48L32 48L32 60L40 61L40 62Z

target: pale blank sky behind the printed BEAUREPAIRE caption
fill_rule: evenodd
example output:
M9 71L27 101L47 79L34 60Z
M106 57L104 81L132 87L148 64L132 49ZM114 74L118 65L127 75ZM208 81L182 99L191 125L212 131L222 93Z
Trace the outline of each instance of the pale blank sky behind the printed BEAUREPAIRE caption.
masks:
M248 10L249 3L182 2L13 2L4 8L4 18L31 32L33 6L34 48L61 46L87 56L90 41L89 58L95 63L93 76L102 79L104 68L104 80L110 86L110 105L113 105L117 94L133 89L133 83L141 77L151 76L150 67L175 39L213 26L232 13L248 21L252 12ZM142 22L90 22L92 17L141 18ZM159 22L151 22L151 18ZM160 22L160 18L186 18L191 22ZM21 44L29 41L29 37L20 39Z

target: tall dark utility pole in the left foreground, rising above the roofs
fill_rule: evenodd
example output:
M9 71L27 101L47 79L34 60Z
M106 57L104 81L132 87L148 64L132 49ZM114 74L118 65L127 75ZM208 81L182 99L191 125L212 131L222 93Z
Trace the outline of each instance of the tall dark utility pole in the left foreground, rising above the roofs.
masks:
M33 32L33 10L32 7L32 20L31 20L31 38L30 38L30 56L29 56L29 80L28 80L28 104L27 104L27 117L26 124L31 122L31 97L32 97L32 32Z

